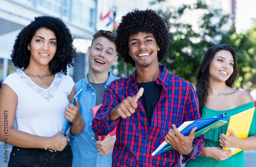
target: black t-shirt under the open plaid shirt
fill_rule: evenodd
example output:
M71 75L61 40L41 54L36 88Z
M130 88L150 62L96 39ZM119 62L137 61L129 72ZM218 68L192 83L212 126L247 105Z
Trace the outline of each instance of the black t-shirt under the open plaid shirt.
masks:
M162 85L158 85L156 81L137 83L138 88L144 88L141 96L142 105L146 112L147 120L151 125L152 115L159 101L162 92Z

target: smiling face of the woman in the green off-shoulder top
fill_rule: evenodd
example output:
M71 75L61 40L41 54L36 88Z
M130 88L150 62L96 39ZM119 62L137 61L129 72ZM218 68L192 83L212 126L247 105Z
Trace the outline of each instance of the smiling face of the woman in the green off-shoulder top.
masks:
M229 51L217 52L209 65L210 81L225 82L233 73L234 59Z

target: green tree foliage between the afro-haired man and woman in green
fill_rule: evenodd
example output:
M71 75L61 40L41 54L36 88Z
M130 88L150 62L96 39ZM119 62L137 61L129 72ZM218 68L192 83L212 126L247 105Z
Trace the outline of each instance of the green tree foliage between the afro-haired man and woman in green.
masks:
M163 64L170 73L195 83L206 50L221 41L229 15L211 10L204 1L157 11L170 29L169 56ZM196 24L195 24L196 22ZM196 28L193 25L197 25Z

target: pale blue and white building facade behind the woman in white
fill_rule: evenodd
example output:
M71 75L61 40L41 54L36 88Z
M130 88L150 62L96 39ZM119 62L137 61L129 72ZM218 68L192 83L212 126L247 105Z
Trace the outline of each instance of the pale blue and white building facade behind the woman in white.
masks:
M96 31L96 0L0 0L0 40L2 41L0 45L0 81L17 70L10 58L17 34L33 21L34 17L41 15L59 17L66 23L73 39L79 39L74 40L78 59L86 61L82 52L84 46L81 44L90 43L92 35ZM81 43L80 39L87 40L87 42ZM86 62L78 62L81 67L86 64ZM82 72L82 75L86 73L86 71ZM68 73L72 77L76 77L74 68L69 69Z

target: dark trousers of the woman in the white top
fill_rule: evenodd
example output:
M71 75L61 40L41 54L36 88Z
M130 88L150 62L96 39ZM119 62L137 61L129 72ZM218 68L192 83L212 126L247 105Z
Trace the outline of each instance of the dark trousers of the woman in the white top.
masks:
M13 146L9 166L72 166L73 153L70 146L63 151L51 152L43 149L24 149Z

